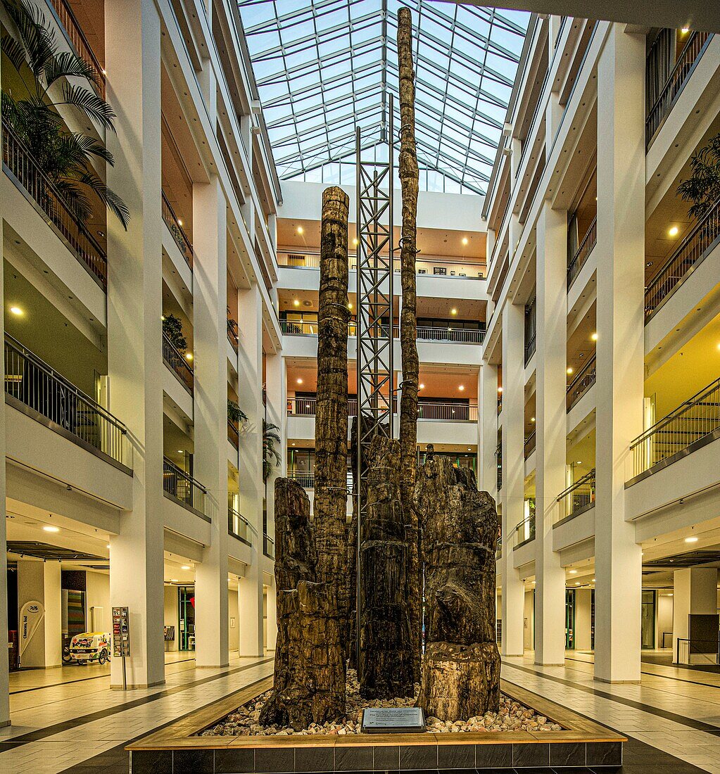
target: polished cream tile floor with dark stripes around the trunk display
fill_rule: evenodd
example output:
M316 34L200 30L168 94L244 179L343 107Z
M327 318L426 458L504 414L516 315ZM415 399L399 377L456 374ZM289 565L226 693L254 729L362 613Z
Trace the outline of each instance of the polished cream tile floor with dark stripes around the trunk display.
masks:
M0 771L127 774L129 740L273 669L269 657L235 657L225 669L197 670L188 655L167 654L165 685L126 694L110 690L107 667L12 675L13 725L0 729ZM527 653L505 659L502 676L629 736L623 774L720 774L720 675L643 663L639 685L607 685L596 683L592 670L590 653L568 652L558 667L535 666Z

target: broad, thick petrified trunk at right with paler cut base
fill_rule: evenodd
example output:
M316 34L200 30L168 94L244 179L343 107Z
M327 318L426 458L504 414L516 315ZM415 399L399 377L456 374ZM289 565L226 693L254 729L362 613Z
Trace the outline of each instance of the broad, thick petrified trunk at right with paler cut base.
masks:
M423 531L427 647L420 706L427 716L466 720L497 711L495 501L467 468L432 457L417 474Z

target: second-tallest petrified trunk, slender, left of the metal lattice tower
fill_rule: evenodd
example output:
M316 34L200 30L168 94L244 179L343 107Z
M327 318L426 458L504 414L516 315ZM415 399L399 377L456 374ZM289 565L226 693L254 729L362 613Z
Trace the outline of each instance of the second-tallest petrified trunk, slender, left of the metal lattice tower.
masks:
M320 293L317 312L317 400L315 404L315 577L327 599L317 610L327 618L321 639L327 670L341 675L333 702L345 712L345 622L348 615L348 195L323 192ZM318 590L319 592L319 590ZM307 632L312 638L314 632ZM339 716L338 715L338 716Z

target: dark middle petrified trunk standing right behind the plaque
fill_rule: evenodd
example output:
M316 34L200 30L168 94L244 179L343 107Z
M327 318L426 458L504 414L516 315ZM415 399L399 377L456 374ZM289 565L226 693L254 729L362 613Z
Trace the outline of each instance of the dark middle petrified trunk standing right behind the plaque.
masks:
M367 515L360 527L360 695L369 699L414 693L399 464L399 442L375 436L368 454Z

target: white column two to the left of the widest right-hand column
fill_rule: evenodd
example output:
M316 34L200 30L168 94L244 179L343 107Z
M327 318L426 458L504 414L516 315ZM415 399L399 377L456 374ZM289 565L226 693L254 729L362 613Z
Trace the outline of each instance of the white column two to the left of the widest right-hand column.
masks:
M513 563L513 529L523 521L525 492L525 309L507 301L502 310L502 655L523 655L525 584ZM495 395L495 397L497 397Z

